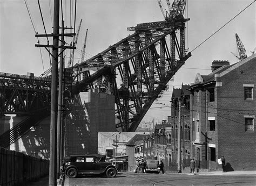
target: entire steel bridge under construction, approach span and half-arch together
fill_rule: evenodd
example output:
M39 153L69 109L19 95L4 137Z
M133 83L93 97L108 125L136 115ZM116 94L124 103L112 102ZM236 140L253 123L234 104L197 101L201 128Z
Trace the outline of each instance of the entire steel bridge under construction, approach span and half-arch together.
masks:
M129 27L127 30L133 33L128 37L91 59L65 69L73 74L69 110L74 111L71 107L77 105L79 92L97 88L115 97L119 120L116 130L135 131L166 84L191 56L185 49L185 23L189 20L183 16L185 5L185 0L175 0L163 22ZM49 77L0 73L1 115L30 116L1 135L0 142L5 144L2 146L10 145L32 123L46 117L42 113L50 108L50 88ZM71 114L72 118L77 115L76 111Z

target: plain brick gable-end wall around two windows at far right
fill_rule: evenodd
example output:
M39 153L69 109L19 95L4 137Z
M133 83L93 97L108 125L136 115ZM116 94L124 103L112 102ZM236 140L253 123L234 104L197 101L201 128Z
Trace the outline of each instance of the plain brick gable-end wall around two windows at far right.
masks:
M218 91L218 158L234 170L256 169L256 134L245 131L245 115L256 115L255 58L221 77ZM244 99L243 84L254 84L252 101Z

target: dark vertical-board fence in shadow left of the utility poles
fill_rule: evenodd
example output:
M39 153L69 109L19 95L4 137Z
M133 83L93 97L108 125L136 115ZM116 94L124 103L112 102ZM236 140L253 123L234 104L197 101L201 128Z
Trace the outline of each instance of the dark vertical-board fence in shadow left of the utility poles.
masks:
M19 185L49 174L49 161L0 147L0 185Z

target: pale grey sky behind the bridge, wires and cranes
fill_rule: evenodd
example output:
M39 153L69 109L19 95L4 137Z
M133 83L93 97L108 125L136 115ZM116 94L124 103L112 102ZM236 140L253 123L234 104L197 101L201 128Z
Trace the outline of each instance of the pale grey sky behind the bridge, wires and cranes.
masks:
M46 32L51 33L53 0L39 2ZM247 56L252 54L250 51L256 47L256 3L196 48L252 2L254 0L187 0L184 17L190 18L190 21L186 25L185 42L188 51L193 51L192 56L176 73L174 81L169 82L169 90L151 106L144 121L152 118L159 121L167 119L171 115L173 86L180 88L181 83L192 83L197 73L210 74L213 60L228 60L231 64L238 62L231 54L238 54L235 33L238 33L244 44ZM44 34L38 2L26 0L26 3L33 25L24 0L0 0L0 72L22 75L29 72L39 76L50 68L50 58L44 48L35 47L35 30L38 34ZM74 15L75 10L70 9L70 4L75 5L75 1L63 0L63 18L67 27L74 26L74 16L71 15ZM166 1L162 0L162 5L167 10ZM89 59L132 34L133 32L127 31L127 27L164 20L157 0L78 0L76 12L75 30L80 19L83 19L74 58L76 62L81 58L86 28L85 59ZM40 44L46 44L44 38L39 40ZM51 44L52 38L49 41ZM70 43L71 40L67 39L66 42ZM69 55L66 56L66 60L68 59Z

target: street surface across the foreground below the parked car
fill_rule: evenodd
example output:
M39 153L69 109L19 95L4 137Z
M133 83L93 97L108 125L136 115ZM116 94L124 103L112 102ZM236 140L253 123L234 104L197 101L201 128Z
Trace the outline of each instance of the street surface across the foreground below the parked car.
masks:
M114 178L79 176L64 185L256 185L256 175L192 175L119 173Z

